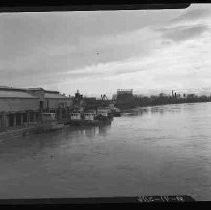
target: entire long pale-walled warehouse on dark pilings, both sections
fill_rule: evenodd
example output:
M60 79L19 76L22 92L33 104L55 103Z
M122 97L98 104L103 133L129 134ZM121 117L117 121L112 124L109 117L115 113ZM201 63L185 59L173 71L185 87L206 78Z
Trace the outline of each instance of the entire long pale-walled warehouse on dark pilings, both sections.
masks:
M63 120L71 109L72 98L43 88L0 87L0 130L26 127L41 120L41 113L55 113Z

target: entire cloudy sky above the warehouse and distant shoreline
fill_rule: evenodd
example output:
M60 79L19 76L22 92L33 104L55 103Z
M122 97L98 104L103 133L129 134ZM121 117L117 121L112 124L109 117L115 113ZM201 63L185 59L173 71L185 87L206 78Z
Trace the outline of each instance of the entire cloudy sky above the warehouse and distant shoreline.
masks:
M211 4L0 14L0 86L110 95L211 90Z

